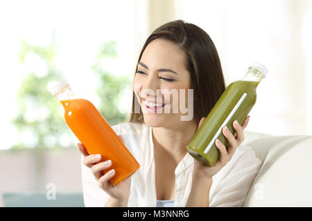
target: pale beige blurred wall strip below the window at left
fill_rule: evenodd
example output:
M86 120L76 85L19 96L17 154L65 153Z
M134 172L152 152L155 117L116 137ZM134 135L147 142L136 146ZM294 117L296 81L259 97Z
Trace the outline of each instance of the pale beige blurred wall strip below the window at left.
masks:
M3 192L48 191L82 192L78 148L0 151L0 195Z

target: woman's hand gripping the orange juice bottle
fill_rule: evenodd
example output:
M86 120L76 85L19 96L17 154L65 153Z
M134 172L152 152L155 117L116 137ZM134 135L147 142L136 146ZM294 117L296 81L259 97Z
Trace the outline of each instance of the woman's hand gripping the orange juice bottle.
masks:
M119 136L119 138L123 142L122 137ZM115 175L114 169L103 173L103 170L109 169L112 166L112 161L106 160L101 162L101 154L89 155L83 144L78 144L78 148L84 155L83 164L91 169L96 182L98 182L98 186L110 195L109 206L128 206L131 177L114 186L110 182L110 179Z

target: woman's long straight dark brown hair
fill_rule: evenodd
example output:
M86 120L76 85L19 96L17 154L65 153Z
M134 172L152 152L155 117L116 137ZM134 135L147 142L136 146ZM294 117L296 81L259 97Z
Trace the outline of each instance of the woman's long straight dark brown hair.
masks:
M185 23L182 20L171 21L155 29L146 39L138 63L146 46L155 39L172 41L187 55L185 67L191 75L194 117L199 124L200 119L208 115L225 90L223 72L214 42L202 28L192 23ZM129 122L144 123L141 107L140 112L135 113L135 102L139 105L135 93L132 92L132 112Z

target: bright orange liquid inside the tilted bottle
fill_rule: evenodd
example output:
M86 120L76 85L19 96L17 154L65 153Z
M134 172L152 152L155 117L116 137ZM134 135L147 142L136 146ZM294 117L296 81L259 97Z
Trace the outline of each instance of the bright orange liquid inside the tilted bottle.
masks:
M91 102L86 99L67 99L61 103L67 125L88 153L101 154L101 161L112 160L112 166L103 172L115 170L114 177L110 179L114 186L139 169L135 157Z

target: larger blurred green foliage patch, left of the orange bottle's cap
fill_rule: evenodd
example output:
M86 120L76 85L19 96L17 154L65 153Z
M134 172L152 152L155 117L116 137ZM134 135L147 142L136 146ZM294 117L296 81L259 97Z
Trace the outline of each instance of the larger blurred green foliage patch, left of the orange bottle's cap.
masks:
M25 64L28 56L35 56L42 59L46 65L46 73L38 75L33 70L25 75L21 80L21 85L17 91L16 101L19 106L17 116L12 120L21 135L15 146L12 148L42 148L46 146L44 140L54 141L58 146L57 139L60 135L68 133L64 127L61 109L55 105L55 100L47 90L50 81L58 81L62 77L60 71L55 66L57 51L52 42L49 46L32 46L26 41L21 42L19 52L19 62ZM37 61L38 61L37 60ZM44 113L44 114L43 114ZM26 142L27 137L31 136L31 146ZM49 136L49 137L48 137ZM52 141L53 140L53 141Z

